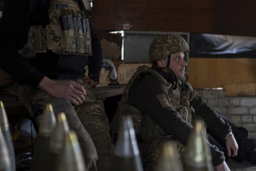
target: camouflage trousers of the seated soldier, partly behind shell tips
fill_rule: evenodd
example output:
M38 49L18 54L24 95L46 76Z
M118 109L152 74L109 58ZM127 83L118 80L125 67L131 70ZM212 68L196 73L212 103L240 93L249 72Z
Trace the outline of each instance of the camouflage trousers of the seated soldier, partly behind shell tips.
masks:
M196 121L202 120L204 121L204 124L206 126L205 120L200 117L199 115L192 113L192 125L196 123ZM157 169L157 163L160 157L160 150L162 149L162 146L164 143L172 141L175 143L176 147L178 148L178 154L176 156L180 157L180 160L182 163L182 159L184 157L184 154L186 152L186 146L180 143L177 139L172 137L171 135L168 136L161 136L157 137L155 139L152 139L150 141L139 141L139 149L140 149L140 156L142 159L142 164L144 167L144 171L156 171Z

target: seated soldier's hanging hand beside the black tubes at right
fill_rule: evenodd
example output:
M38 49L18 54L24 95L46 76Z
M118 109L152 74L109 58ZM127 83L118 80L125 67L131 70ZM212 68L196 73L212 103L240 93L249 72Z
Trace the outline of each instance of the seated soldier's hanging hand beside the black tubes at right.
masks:
M237 155L238 144L232 132L228 133L226 137L226 147L228 150L228 156L234 157Z

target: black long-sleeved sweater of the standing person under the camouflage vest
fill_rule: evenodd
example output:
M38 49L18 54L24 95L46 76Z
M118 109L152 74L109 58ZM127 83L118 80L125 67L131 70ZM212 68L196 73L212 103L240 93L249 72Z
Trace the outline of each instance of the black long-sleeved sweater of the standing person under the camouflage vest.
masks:
M76 0L86 18L89 18L82 0ZM89 20L92 38L92 56L56 55L50 50L38 53L26 60L18 53L28 38L30 26L49 22L48 7L50 0L7 0L0 19L0 68L22 83L37 87L47 76L50 79L77 79L88 65L89 75L100 76L102 48L100 40Z

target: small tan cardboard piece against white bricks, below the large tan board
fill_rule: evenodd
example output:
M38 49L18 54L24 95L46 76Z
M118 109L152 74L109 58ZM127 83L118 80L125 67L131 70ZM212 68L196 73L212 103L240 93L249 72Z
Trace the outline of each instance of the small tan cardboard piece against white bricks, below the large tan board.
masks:
M256 83L223 85L225 96L256 96Z

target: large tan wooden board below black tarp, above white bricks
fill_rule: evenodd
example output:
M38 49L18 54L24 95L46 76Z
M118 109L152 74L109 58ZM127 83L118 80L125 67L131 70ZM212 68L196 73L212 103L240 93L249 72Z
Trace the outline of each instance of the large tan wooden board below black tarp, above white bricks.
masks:
M256 82L256 58L190 58L188 81L195 88Z

